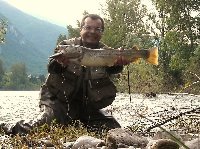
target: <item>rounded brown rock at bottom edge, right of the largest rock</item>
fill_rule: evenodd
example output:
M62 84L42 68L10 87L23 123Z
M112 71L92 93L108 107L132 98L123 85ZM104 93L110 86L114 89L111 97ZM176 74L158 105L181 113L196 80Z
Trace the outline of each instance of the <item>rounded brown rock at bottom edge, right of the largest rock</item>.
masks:
M179 145L170 139L151 140L146 149L179 149Z

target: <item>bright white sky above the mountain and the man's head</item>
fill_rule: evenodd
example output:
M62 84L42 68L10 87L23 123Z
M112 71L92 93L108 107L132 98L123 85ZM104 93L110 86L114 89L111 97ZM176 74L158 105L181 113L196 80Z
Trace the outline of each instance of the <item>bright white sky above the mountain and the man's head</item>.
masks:
M77 26L83 12L102 15L106 0L6 0L14 7L54 24Z

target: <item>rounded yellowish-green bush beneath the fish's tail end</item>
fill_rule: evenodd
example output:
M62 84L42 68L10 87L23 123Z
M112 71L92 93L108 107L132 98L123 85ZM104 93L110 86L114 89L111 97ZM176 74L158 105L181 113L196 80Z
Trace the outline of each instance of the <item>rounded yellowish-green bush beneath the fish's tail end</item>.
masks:
M115 79L120 92L149 93L161 92L163 89L159 71L155 66L141 61L137 64L125 66L123 73Z

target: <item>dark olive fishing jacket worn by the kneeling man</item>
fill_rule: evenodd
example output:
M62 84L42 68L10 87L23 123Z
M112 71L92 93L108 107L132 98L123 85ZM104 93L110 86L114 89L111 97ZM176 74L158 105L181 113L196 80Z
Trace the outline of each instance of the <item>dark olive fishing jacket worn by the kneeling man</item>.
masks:
M81 38L64 40L59 44L82 45ZM100 43L97 48L108 47ZM47 80L41 88L40 105L54 107L56 102L70 104L73 100L79 100L80 103L87 100L85 108L104 108L113 102L117 92L110 75L119 73L122 69L122 66L83 67L77 64L64 68L52 59L48 64Z

